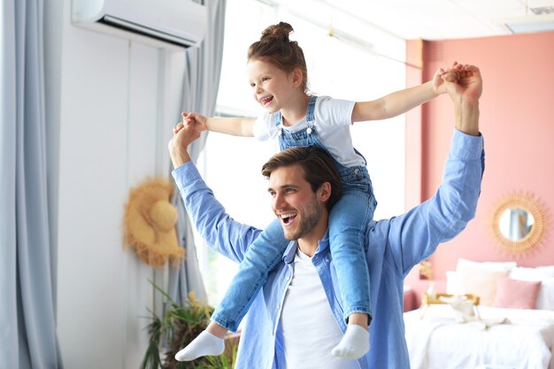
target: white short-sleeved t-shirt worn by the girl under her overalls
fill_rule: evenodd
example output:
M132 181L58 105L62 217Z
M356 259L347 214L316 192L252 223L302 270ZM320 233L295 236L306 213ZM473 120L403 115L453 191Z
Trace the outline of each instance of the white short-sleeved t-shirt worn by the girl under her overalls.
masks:
M314 127L318 132L321 142L335 159L344 166L365 165L364 158L360 157L352 145L350 126L352 125L353 101L334 99L329 96L318 96L314 109ZM289 132L297 132L307 127L306 118L297 122L294 126L285 127L281 124L275 126L273 114L265 111L256 119L253 133L259 141L269 139L278 140L280 129Z

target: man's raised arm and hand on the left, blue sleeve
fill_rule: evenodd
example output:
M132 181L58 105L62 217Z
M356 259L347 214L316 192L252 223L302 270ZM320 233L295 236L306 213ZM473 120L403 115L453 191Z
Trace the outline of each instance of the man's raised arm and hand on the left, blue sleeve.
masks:
M206 186L188 152L189 144L198 136L193 125L183 126L180 123L173 129L173 138L168 143L175 167L173 178L198 233L213 250L240 262L261 230L229 217L223 205L213 196L212 190Z

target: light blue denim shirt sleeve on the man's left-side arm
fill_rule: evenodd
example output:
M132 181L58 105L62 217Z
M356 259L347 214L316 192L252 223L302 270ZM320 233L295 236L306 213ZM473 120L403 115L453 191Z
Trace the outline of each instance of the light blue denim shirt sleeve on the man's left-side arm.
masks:
M192 162L181 165L172 174L198 233L213 250L240 263L261 230L232 219Z

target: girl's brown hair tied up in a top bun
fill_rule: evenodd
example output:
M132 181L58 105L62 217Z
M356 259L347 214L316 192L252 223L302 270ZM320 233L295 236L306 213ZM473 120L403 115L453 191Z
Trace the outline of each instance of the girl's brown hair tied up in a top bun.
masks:
M302 88L308 93L308 68L304 51L298 42L290 41L289 34L294 32L289 23L279 22L265 28L259 41L250 45L248 60L259 59L277 66L281 71L290 73L294 68L302 72Z

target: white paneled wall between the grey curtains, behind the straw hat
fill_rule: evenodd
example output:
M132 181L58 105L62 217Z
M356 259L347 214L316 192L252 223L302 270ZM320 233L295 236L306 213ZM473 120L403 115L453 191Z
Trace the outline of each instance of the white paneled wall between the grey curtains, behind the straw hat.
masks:
M62 357L69 369L135 369L154 273L124 248L122 219L129 188L169 175L184 51L74 27L71 0L45 8Z

